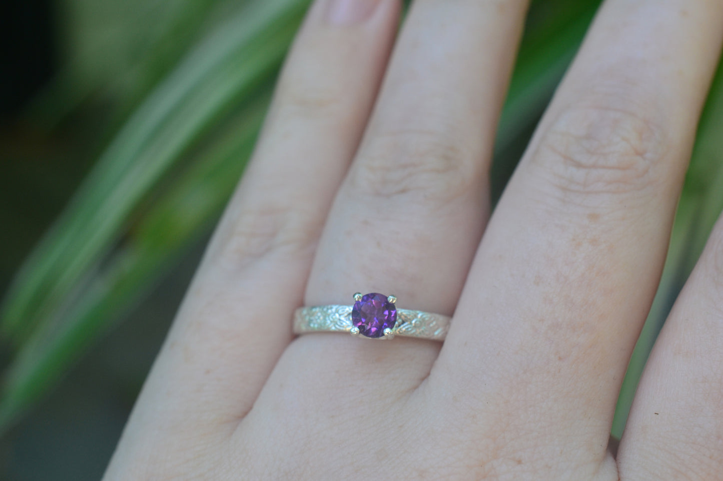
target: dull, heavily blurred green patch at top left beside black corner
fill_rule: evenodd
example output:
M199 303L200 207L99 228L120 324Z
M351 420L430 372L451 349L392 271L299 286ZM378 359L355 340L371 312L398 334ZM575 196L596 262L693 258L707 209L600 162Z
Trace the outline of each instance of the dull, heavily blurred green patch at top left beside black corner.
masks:
M114 117L124 116L232 1L60 2L64 58L27 116L53 128L94 94L108 110L119 110Z

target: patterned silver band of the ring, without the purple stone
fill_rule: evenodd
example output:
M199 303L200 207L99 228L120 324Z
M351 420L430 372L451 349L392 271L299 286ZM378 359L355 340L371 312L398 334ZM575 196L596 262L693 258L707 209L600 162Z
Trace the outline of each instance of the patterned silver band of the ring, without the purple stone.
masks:
M296 309L294 334L309 332L351 332L352 306L315 306ZM397 309L395 336L417 337L443 341L450 326L450 317L421 311ZM380 338L383 339L383 338Z

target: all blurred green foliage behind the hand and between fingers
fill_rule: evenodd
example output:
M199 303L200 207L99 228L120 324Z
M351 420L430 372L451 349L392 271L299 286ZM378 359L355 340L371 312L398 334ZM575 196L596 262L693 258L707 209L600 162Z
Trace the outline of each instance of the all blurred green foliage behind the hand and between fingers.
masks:
M241 175L307 0L63 0L64 63L27 110L47 134L79 116L96 157L4 298L11 356L0 432L45 396L206 238ZM598 0L536 1L500 121L499 196ZM623 384L620 436L667 311L723 207L723 77L701 121L661 287ZM98 152L95 152L97 149Z

